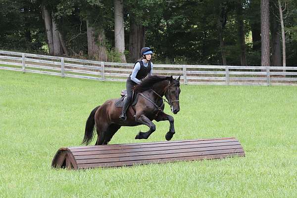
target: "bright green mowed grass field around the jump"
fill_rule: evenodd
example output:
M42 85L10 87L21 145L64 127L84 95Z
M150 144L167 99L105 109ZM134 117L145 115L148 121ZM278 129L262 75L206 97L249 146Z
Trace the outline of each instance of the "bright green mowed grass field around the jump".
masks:
M91 110L124 88L0 70L0 198L297 197L297 87L181 85L172 140L236 137L246 157L52 169L58 148L80 145ZM148 140L134 139L146 126L122 127L110 144L164 141L169 123L155 124Z

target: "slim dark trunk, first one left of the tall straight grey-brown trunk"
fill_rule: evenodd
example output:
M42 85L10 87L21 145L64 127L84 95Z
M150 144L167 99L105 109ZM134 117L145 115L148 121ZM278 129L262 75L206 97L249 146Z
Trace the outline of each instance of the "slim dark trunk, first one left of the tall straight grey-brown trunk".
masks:
M244 29L244 21L243 21L243 5L241 1L237 4L237 22L238 22L238 42L240 46L240 62L241 65L247 65L246 59L246 38L245 38L245 29Z

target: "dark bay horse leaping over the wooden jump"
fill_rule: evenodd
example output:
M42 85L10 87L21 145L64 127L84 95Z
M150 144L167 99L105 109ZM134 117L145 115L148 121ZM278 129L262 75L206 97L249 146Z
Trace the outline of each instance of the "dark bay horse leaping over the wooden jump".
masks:
M127 110L127 120L122 121L119 116L122 112L121 107L115 106L117 99L109 99L102 105L94 108L87 120L85 136L82 144L89 145L93 140L95 129L97 131L97 142L95 145L107 145L112 136L121 128L121 126L147 125L147 132L139 132L135 139L148 139L150 134L155 131L156 126L152 120L164 121L170 123L169 132L165 135L166 140L171 140L174 130L174 119L171 115L163 112L164 101L176 114L180 110L179 95L180 77L174 79L172 76L151 75L143 79L142 83L134 87L134 93L139 93L138 101ZM167 99L163 99L163 96Z

